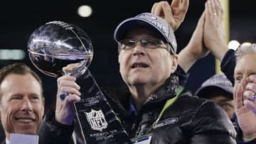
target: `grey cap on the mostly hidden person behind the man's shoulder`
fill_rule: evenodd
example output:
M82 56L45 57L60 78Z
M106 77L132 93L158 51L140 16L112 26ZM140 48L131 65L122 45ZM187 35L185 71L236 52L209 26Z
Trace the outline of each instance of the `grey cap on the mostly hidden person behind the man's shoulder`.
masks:
M213 75L213 77L207 79L206 82L203 82L195 94L201 98L208 99L210 89L221 89L228 94L226 95L228 98L233 99L233 85L230 80L225 77L225 74Z

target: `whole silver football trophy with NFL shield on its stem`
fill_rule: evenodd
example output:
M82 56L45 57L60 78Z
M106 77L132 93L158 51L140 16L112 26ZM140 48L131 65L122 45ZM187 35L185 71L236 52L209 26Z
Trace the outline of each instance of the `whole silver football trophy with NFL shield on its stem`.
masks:
M81 99L74 104L85 143L131 143L110 104L90 74L90 38L78 26L50 21L32 33L28 55L33 65L50 77L77 77Z

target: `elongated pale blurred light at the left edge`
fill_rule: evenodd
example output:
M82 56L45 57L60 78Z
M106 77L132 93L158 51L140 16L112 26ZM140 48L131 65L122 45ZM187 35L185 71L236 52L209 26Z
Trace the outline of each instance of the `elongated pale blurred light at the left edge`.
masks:
M0 60L23 60L26 57L24 50L18 49L1 49Z

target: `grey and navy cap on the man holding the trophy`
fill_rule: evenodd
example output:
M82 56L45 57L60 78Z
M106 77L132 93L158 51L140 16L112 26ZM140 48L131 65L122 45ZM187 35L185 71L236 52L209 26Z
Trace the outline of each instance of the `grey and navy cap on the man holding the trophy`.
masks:
M127 18L126 20L119 23L114 31L114 40L117 42L124 38L127 31L131 31L134 28L149 28L152 31L159 33L162 40L166 41L171 45L172 51L176 53L177 42L174 35L174 31L167 21L159 16L155 16L151 13L141 13L135 17Z

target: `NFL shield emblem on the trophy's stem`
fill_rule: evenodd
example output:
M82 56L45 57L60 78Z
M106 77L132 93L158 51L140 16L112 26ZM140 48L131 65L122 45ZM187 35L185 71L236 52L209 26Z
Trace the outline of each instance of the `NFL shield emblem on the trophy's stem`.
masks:
M90 123L92 130L102 131L108 126L104 113L101 109L99 111L92 109L89 113L85 112L85 116L87 121Z

